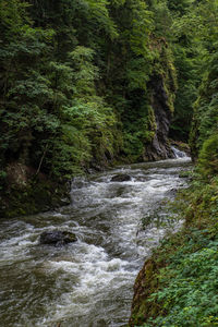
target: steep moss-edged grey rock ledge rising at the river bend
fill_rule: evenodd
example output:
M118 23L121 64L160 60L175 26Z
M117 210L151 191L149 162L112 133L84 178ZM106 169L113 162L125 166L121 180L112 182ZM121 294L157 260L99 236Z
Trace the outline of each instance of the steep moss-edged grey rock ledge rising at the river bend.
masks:
M152 47L156 48L159 57L154 62L153 73L147 84L155 133L150 143L145 146L143 155L145 161L174 158L168 138L178 89L174 59L169 45L164 38L153 39Z

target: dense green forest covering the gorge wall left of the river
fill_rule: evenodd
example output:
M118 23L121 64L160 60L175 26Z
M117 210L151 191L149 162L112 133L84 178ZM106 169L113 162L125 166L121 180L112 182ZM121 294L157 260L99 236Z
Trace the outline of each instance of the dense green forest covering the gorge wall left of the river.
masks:
M170 121L187 141L205 52L180 22L190 5L0 1L3 215L89 169L173 157Z

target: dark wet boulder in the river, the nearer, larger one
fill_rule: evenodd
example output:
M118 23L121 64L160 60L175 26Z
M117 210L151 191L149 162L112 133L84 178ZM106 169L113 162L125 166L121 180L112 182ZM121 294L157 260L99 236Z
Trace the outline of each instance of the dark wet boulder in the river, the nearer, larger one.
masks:
M74 233L69 231L51 230L40 234L39 243L49 245L65 245L76 241Z

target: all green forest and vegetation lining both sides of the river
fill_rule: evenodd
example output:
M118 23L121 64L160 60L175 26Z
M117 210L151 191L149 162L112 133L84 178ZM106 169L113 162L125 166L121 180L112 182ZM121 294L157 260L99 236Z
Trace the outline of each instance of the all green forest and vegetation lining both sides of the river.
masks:
M0 215L189 143L185 227L145 263L130 325L216 326L218 1L0 0Z

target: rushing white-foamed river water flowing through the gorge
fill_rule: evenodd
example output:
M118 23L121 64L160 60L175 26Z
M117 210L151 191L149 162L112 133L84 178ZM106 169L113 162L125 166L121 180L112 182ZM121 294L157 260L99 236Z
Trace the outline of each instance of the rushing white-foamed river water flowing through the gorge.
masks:
M140 268L181 225L162 207L185 185L180 172L189 165L185 157L75 179L70 206L1 220L0 326L125 326ZM131 180L111 182L116 174ZM165 223L154 223L157 217ZM77 242L40 245L40 233L57 228L76 233Z

